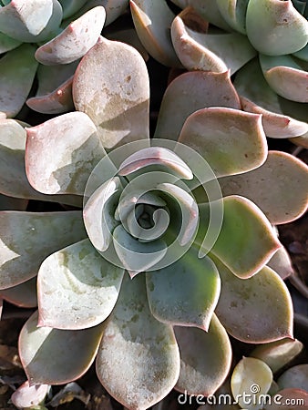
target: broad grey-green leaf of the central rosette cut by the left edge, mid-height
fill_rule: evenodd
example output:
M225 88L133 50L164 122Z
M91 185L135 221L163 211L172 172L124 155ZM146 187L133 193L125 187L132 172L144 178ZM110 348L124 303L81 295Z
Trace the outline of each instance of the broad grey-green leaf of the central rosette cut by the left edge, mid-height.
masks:
M1 278L5 289L36 276L51 253L87 236L81 212L0 212Z

